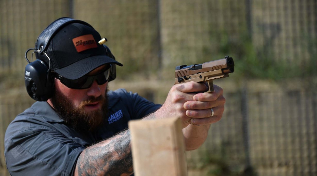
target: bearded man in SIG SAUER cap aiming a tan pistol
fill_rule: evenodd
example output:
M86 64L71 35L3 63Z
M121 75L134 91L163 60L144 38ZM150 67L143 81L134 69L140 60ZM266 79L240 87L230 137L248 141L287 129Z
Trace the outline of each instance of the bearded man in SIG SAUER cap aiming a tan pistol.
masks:
M163 105L124 89L108 91L114 64L122 64L110 58L100 39L89 24L73 21L56 28L48 47L36 50L50 73L41 81L51 80L53 92L7 128L5 158L12 175L131 175L129 120L179 117L186 150L193 150L222 117L225 99L218 86L207 94L202 83L174 85ZM29 88L33 98L36 89Z

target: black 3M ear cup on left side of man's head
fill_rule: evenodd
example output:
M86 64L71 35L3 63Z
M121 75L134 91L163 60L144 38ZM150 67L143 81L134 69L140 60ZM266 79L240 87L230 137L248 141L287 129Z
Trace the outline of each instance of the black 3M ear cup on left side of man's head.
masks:
M54 82L48 74L48 67L39 59L25 66L25 88L36 101L47 101L53 95Z

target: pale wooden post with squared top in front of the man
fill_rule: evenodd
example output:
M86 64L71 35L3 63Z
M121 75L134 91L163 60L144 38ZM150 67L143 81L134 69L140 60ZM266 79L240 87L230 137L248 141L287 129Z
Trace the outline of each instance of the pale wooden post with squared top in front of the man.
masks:
M179 118L129 121L135 176L187 176Z

